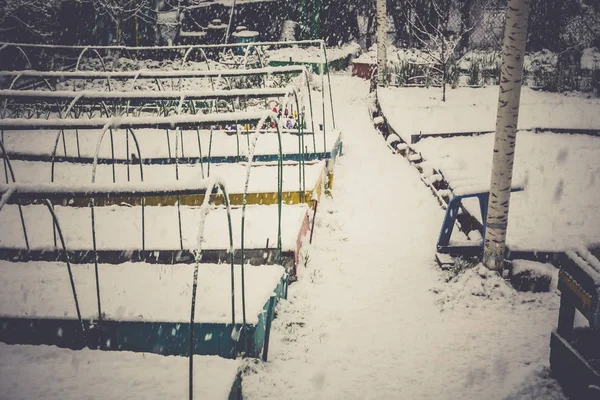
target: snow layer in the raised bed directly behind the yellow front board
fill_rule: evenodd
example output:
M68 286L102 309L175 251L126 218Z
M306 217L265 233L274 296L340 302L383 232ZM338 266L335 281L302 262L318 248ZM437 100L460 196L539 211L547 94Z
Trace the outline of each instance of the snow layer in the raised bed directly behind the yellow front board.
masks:
M48 183L51 177L50 162L29 162L12 161L11 162L17 182L19 183ZM92 181L92 164L73 164L73 163L55 163L54 182L60 184L81 184ZM179 181L187 182L190 186L194 183L203 182L204 176L207 176L208 166L200 164L185 164L176 166L171 165L144 165L144 182L149 184L170 183L176 181L176 171L178 169ZM220 177L220 181L225 184L227 192L244 193L246 182L246 164L213 164L210 167L212 177ZM325 170L325 162L306 163L304 172L306 190L313 190L320 182ZM115 185L129 185L127 182L127 166L120 164L115 166L116 183ZM283 166L283 191L293 192L302 190L299 180L300 165ZM131 183L140 182L140 170L136 165L129 167ZM248 193L267 193L277 192L277 164L253 165L250 171L250 182ZM112 183L112 166L101 164L96 168L96 182L104 187L110 187Z

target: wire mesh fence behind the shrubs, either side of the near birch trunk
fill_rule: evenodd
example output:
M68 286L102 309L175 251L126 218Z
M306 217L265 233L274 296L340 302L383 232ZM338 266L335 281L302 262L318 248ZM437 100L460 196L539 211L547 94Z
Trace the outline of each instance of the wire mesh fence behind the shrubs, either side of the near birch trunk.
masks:
M500 50L506 2L500 0L390 0L392 34L400 47L420 47L436 30L461 37L462 51ZM425 31L425 32L423 32ZM531 0L528 51L553 52L600 45L599 0Z

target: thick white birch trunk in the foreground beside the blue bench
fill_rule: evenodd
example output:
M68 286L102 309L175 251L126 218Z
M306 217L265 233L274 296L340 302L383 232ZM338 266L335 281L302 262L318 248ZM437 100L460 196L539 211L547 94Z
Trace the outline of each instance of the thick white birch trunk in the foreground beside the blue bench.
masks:
M489 269L494 270L504 267L508 208L530 1L508 0L506 12L490 201L483 251L483 263Z

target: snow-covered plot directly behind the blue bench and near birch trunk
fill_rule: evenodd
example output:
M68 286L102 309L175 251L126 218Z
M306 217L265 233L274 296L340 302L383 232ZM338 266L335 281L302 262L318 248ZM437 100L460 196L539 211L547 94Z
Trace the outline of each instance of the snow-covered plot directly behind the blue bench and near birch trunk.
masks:
M494 135L429 138L413 147L452 187L465 179L489 182ZM561 251L600 242L600 138L520 132L507 241L511 249ZM479 220L476 199L463 201Z

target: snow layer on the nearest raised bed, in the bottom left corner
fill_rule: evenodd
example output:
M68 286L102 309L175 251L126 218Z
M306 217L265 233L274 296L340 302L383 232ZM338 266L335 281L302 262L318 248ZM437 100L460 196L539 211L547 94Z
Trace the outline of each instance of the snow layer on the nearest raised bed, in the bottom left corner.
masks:
M185 399L188 363L177 356L0 343L0 399ZM194 398L227 399L239 366L194 356Z

